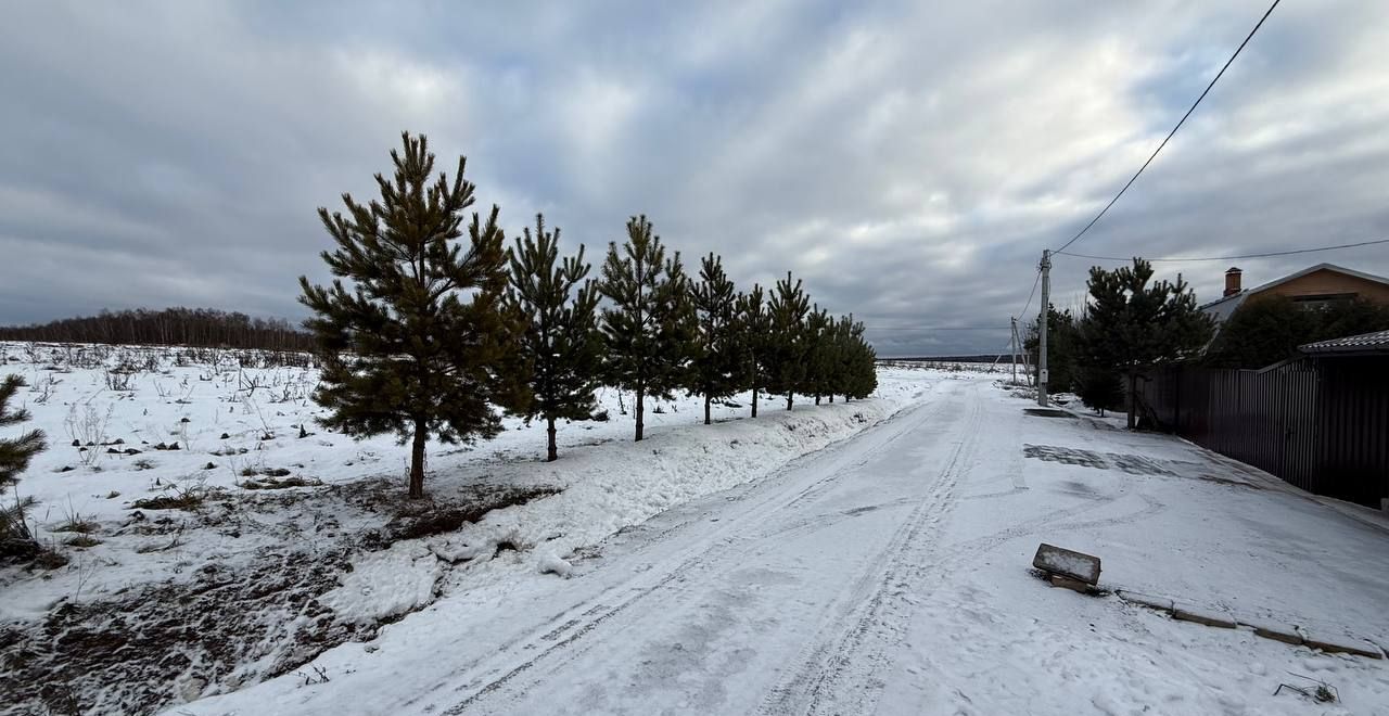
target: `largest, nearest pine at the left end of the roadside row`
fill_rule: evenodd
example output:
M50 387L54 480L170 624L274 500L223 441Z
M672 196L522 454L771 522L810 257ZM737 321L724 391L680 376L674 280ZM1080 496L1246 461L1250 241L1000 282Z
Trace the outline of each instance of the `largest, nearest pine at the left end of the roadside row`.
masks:
M347 215L318 210L338 243L324 251L331 287L308 283L300 301L322 350L315 400L332 414L328 427L354 437L396 433L411 441L410 497L424 497L425 443L492 437L501 423L489 402L511 343L501 309L507 284L497 207L476 214L463 236L463 211L474 185L458 171L431 183L435 157L421 135L392 150L394 176L376 175L381 198L358 204L343 194ZM349 289L343 279L351 282Z

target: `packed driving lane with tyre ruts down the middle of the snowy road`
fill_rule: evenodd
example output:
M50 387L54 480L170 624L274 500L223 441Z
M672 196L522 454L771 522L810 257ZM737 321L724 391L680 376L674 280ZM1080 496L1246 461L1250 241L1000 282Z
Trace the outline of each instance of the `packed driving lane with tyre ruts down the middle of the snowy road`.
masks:
M443 713L865 710L906 599L949 569L935 547L981 462L978 390L947 382L778 480L624 534L592 573L601 590L433 698Z

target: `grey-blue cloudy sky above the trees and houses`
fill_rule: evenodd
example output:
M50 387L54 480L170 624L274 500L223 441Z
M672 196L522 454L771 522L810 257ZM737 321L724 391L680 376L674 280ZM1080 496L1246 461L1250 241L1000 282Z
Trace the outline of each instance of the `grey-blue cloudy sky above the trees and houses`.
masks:
M303 318L401 130L468 157L508 236L590 257L647 214L746 286L788 269L881 355L999 350L1265 0L63 3L0 24L0 323L101 308ZM1389 237L1389 3L1283 3L1074 251ZM1389 244L1240 261L1246 284ZM1090 261L1058 258L1078 305ZM1164 264L1201 300L1226 264ZM1036 304L1033 304L1036 305ZM892 330L897 329L897 330ZM903 330L906 329L906 330Z

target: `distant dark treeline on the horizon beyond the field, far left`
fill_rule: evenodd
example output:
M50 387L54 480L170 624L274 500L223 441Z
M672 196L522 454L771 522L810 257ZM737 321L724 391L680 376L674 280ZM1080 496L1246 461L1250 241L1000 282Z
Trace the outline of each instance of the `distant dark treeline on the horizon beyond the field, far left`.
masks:
M314 339L282 318L251 318L215 308L101 311L94 316L0 327L0 340L193 346L311 351Z

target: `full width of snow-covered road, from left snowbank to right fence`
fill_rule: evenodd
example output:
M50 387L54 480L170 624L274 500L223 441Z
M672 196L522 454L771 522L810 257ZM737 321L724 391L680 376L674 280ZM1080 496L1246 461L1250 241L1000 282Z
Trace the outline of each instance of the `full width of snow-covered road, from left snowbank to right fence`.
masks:
M1047 587L1101 586L1389 637L1389 533L1178 440L1024 412L989 380L575 563L439 599L372 644L178 713L1389 712L1389 667ZM1370 519L1367 516L1367 519ZM314 674L325 676L326 683Z

